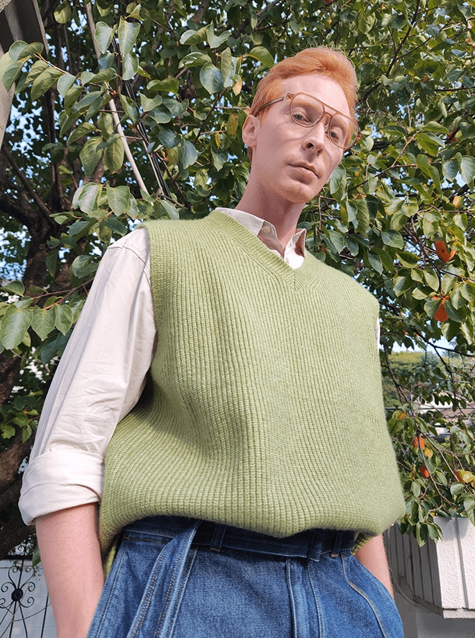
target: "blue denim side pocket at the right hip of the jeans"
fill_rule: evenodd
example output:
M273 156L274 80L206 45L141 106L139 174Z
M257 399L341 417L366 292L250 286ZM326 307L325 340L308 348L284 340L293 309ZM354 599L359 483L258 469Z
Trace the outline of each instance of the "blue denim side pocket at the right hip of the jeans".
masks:
M384 638L403 638L401 616L389 591L353 555L344 556L344 575L351 589L371 607Z

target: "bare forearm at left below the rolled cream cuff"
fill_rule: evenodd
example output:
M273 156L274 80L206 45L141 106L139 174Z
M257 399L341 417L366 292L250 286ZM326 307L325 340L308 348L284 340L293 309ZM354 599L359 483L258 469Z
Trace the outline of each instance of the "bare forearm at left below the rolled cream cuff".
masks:
M40 516L36 533L58 638L85 638L104 583L97 505Z

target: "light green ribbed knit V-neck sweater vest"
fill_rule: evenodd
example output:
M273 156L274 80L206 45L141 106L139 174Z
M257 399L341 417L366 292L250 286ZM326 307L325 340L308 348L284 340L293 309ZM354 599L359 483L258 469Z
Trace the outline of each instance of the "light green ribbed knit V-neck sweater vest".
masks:
M103 548L153 514L382 532L404 504L374 297L310 254L292 270L219 211L145 225L158 346L108 446Z

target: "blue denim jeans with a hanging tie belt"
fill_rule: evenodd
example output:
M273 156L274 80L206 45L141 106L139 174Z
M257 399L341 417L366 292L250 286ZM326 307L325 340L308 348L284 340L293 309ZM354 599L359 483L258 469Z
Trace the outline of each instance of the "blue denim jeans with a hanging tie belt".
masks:
M352 532L287 539L190 518L124 529L88 638L402 638Z

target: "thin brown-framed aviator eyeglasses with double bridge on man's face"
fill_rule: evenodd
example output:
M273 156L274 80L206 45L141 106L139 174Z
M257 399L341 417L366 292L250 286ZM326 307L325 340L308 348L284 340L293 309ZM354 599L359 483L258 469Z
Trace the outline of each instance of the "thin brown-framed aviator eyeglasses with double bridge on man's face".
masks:
M338 148L347 151L361 138L358 124L356 124L354 120L351 120L351 117L347 117L347 115L335 111L331 106L324 104L324 102L313 97L313 95L308 95L308 93L288 93L287 95L273 99L263 104L263 106L260 106L254 115L258 115L263 108L277 104L277 102L281 102L285 99L290 100L289 115L292 122L309 129L310 126L316 126L324 120L325 133ZM335 112L329 113L327 109Z

